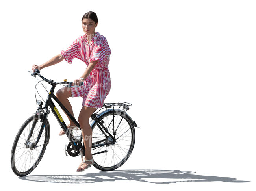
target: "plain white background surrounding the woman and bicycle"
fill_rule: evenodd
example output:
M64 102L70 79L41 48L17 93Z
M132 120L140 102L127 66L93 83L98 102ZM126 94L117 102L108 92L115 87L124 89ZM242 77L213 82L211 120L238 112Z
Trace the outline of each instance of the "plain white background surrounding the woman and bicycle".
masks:
M139 186L252 190L256 170L255 9L255 2L247 0L2 1L1 182L19 190L132 190ZM141 180L148 182L128 180L125 175L119 176L123 180L109 178L95 167L77 173L80 157L65 156L67 137L58 136L61 128L52 113L48 117L50 143L28 176L39 176L39 180L52 175L56 181L61 181L61 175L94 176L94 184L20 179L11 170L10 155L20 126L36 111L34 78L28 70L84 35L81 19L88 11L97 14L96 31L106 37L112 51L111 91L105 103L132 103L128 114L140 126L135 128L132 155L116 171L143 171L147 175ZM41 74L57 82L72 81L85 67L79 59L71 65L64 60L42 69ZM49 90L49 84L44 84ZM40 92L45 99L46 91L41 88ZM82 98L69 100L77 119ZM174 170L178 171L166 173ZM201 181L181 182L186 176L179 171L195 172L188 176Z

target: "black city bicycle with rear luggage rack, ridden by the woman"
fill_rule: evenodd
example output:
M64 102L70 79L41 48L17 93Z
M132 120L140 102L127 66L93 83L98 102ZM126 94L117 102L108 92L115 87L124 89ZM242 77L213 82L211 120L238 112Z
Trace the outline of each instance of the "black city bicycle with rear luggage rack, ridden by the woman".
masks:
M65 155L68 156L69 154L69 156L72 157L80 155L82 159L83 156L85 156L85 147L82 145L82 132L80 135L78 133L73 135L73 130L67 128L65 121L52 101L53 98L81 130L76 119L54 95L54 89L57 84L68 84L66 87L71 87L72 82L67 82L67 79L64 79L64 82L48 80L41 76L37 69L35 69L35 72L31 73L31 75L35 78L37 75L40 76L44 81L52 85L52 87L50 92L46 90L48 96L45 106L42 107L43 102L37 100L37 111L22 124L13 142L11 150L11 168L17 176L30 174L37 167L45 153L46 146L49 144L50 140L50 123L47 119L50 113L49 107L69 139L69 142L65 145ZM39 82L37 82L37 84ZM130 157L135 144L134 127L138 127L136 122L126 113L131 105L132 104L127 102L104 103L102 108L97 108L91 115L91 121L89 121L89 123L91 122L90 125L93 130L91 151L95 162L93 166L97 169L113 171L123 165ZM119 106L119 108L114 108L116 106ZM120 109L121 106L123 106L122 110ZM111 107L113 107L113 109L107 109ZM105 111L98 113L104 108L106 108ZM115 126L116 124L117 126ZM115 148L117 149L115 150ZM108 158L111 160L110 163ZM20 165L22 159L24 159L24 161L21 162L22 164Z

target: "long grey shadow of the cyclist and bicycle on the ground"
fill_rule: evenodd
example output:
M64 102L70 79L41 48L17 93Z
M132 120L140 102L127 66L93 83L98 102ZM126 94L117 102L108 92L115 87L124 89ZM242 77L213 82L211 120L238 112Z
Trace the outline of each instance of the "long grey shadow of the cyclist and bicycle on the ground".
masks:
M117 180L136 180L140 182L148 182L155 184L171 184L177 182L250 182L245 180L237 180L230 177L219 176L203 176L197 175L196 172L179 171L179 170L114 170L100 171L98 173L86 173L83 175L32 175L19 177L22 180L36 182L56 182L56 183L94 183L94 182L110 182ZM102 178L105 176L106 178ZM151 180L150 180L151 179ZM172 181L166 181L170 179ZM178 180L174 180L178 179ZM157 181L157 182L155 182Z

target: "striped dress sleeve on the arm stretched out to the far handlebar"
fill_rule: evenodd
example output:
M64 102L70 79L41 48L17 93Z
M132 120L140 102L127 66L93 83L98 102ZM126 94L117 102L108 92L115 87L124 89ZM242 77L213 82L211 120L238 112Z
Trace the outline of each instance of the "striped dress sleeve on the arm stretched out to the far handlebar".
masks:
M71 64L73 58L82 59L80 50L78 48L79 38L77 38L66 50L61 50L61 55L67 63Z

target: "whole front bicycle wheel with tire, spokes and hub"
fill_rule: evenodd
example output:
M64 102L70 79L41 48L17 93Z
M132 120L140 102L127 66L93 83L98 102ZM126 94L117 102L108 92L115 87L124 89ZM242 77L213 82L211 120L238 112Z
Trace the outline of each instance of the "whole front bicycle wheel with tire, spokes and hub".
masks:
M50 125L46 120L43 132L35 146L41 129L42 114L28 118L21 126L11 149L11 168L17 176L26 176L32 172L41 161L50 137ZM28 139L28 137L30 137Z

